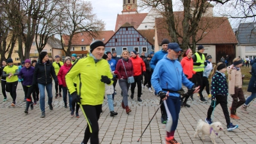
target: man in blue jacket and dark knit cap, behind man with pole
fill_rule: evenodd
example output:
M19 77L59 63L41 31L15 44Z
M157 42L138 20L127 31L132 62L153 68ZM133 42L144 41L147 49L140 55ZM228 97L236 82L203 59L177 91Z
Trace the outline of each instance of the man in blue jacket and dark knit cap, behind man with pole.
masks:
M162 49L161 51L157 51L156 54L154 54L153 58L152 58L151 61L150 61L150 67L153 68L153 70L154 70L154 68L156 67L157 62L158 62L159 60L162 60L162 59L163 59L163 56L164 56L165 54L167 54L167 48L168 48L168 44L169 44L169 43L170 43L169 40L166 39L166 38L164 38L164 39L162 40L161 45L162 45L162 48L163 48L163 49ZM156 91L155 91L155 95L157 95ZM160 103L161 103L161 102L162 102L162 100L160 100ZM163 104L162 104L162 106L161 106L161 114L162 114L162 116L161 116L161 122L162 122L162 124L166 124L167 114L166 114L166 111L165 111L165 108L164 108L164 105L163 105Z

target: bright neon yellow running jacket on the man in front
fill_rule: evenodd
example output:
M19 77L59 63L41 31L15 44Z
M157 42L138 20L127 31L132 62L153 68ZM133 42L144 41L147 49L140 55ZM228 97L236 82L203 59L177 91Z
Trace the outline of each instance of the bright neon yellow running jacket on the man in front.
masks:
M101 76L113 78L108 61L99 60L95 63L93 57L89 55L76 61L65 76L65 81L71 94L77 92L80 95L82 105L97 106L104 101L105 84L100 81ZM77 77L77 87L73 82L75 77ZM112 83L113 81L110 84Z

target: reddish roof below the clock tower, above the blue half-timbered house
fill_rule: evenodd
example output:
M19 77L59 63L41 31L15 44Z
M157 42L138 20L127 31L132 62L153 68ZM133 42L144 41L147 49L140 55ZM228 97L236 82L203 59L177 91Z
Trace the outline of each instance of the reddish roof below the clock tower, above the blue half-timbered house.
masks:
M134 14L124 14L117 15L116 17L116 27L115 31L117 31L125 22L129 22L135 29L137 29L141 22L145 19L148 13L134 13Z

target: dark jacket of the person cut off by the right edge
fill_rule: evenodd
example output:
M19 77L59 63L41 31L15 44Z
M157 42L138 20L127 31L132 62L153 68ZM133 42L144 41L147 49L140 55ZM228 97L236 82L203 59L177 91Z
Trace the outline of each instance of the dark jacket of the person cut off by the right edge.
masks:
M251 63L252 65L252 77L248 84L248 92L256 93L256 59Z

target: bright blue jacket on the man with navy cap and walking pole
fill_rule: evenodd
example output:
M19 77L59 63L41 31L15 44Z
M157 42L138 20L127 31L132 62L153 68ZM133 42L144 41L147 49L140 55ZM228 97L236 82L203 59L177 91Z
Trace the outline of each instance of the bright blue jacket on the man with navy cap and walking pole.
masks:
M194 83L189 81L180 62L177 60L170 60L164 55L163 59L158 61L156 68L152 74L151 84L157 93L163 91L162 89L179 91L182 88L182 84L188 88L192 88ZM165 91L163 91L165 92ZM179 97L179 93L169 93L174 97Z

